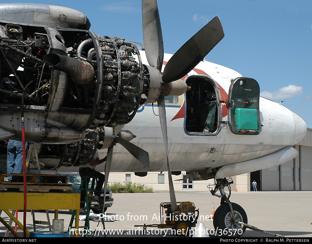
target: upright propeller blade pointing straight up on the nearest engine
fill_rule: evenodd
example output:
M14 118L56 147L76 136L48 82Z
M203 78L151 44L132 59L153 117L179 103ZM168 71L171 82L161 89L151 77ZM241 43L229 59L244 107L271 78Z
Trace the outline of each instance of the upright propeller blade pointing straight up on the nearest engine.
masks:
M142 20L147 61L160 71L163 66L163 34L156 0L142 0Z

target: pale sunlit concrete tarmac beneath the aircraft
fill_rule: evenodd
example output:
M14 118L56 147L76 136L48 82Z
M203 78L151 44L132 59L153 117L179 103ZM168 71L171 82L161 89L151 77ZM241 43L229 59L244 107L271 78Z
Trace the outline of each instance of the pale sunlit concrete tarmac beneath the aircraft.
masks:
M171 229L147 228L149 235L143 235L142 227L134 225L160 224L159 204L170 201L169 191L154 193L116 193L113 194L114 204L106 211L107 216L118 219L113 222L105 222L105 229L110 231L107 236L113 237L176 237L170 235ZM212 196L210 192L177 191L177 201L194 202L199 209L198 223L202 222L207 229L214 230L213 222L208 217L211 215L212 202L215 210L220 205L220 198ZM285 237L312 237L312 214L311 214L312 191L258 191L258 192L232 192L231 202L241 205L246 211L248 224L271 233ZM9 221L6 213L1 217ZM54 211L49 210L52 224ZM113 217L113 218L114 218ZM64 219L66 231L71 219L68 210L59 210L59 219ZM35 219L47 221L46 213L35 211ZM23 223L23 212L18 212L18 220ZM80 234L82 234L85 221L79 221ZM27 229L33 231L32 215L27 211ZM91 236L103 237L103 225L101 222L90 221ZM194 229L194 228L193 228ZM36 224L37 231L49 231L48 226ZM140 230L140 231L139 231ZM5 235L6 227L0 223L0 237ZM114 232L115 231L115 232ZM117 233L119 231L119 233ZM122 231L122 234L120 233ZM19 235L23 236L22 230L17 227ZM113 233L114 232L114 233ZM213 233L210 232L210 233ZM71 235L72 236L72 235ZM212 236L212 235L211 235ZM10 233L9 237L13 237ZM247 229L244 237L274 237L257 231Z

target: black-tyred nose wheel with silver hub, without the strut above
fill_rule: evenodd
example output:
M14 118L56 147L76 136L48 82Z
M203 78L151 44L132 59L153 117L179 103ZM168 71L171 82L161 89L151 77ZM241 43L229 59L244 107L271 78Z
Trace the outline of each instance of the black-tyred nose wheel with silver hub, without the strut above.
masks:
M247 224L247 215L245 210L234 202L232 202L232 207L236 218L235 220ZM245 232L246 226L244 226L241 230L239 224L231 224L231 219L232 214L230 207L227 205L227 203L220 205L213 216L213 226L215 228L215 231L217 231L217 235L238 237ZM233 231L230 232L229 229L232 229Z

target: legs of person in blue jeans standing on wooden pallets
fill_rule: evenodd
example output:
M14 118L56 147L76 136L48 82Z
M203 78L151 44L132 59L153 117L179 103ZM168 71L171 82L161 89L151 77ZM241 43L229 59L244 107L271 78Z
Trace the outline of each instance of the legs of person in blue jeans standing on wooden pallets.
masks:
M27 148L27 143L25 143ZM23 143L21 141L9 140L7 144L7 173L22 174L23 172ZM7 179L12 180L12 175Z

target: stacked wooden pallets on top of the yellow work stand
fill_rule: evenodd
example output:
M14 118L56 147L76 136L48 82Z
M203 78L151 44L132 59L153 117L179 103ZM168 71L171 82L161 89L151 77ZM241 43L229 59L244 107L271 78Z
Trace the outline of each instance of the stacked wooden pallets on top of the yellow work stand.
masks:
M0 191L24 192L23 175L11 174L12 182L4 181L7 175L0 174ZM26 180L27 192L72 192L72 186L67 184L66 175L27 174Z

